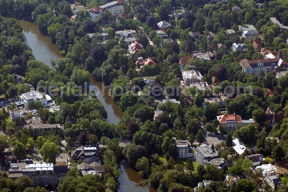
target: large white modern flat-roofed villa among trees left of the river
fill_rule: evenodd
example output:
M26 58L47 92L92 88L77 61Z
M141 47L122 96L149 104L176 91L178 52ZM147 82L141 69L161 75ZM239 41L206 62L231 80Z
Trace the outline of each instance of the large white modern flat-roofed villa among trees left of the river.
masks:
M28 108L29 102L35 103L35 101L40 101L43 107L48 107L55 104L49 95L45 95L39 91L23 93L20 95L20 101L24 103L25 108Z

